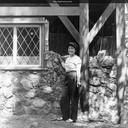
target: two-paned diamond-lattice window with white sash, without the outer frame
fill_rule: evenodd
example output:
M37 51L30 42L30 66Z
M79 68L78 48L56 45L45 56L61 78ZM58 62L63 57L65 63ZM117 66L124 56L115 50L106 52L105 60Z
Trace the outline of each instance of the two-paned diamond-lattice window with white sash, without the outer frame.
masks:
M41 65L40 25L0 26L0 66Z

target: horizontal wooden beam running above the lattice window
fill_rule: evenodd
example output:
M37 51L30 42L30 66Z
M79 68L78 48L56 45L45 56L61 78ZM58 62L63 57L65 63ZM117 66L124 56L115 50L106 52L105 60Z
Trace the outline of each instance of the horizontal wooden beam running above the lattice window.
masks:
M79 7L0 7L0 16L79 16Z

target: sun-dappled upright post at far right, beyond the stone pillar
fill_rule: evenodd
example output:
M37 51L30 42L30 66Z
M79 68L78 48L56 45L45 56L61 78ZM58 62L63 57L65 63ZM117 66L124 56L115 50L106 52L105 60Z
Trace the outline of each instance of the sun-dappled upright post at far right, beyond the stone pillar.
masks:
M125 63L125 12L124 3L116 3L116 47L117 47L117 106L119 122L123 124L123 101L126 86Z

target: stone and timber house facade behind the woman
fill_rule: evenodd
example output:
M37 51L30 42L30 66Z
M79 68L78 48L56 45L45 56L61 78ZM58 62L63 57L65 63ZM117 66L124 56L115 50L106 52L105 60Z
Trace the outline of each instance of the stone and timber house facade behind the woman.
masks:
M82 102L90 106L82 111L119 123L127 108L126 9L119 1L1 1L0 114L60 114L65 72L57 57L75 41L82 58ZM109 68L104 57L105 64L112 62Z

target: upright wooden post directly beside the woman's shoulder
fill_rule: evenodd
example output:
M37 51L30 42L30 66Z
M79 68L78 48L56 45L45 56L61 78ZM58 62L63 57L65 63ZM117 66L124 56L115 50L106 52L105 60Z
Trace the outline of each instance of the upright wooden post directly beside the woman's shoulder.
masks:
M81 68L81 93L80 105L82 112L89 110L89 7L88 3L80 3L80 57L82 58Z

